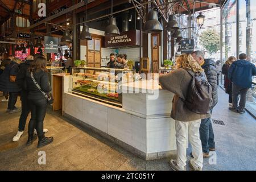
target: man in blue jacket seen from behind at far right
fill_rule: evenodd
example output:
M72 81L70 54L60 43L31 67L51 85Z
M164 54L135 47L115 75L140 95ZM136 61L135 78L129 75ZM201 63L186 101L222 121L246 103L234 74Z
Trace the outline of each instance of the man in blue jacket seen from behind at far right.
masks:
M229 68L228 77L232 81L232 104L229 109L237 113L245 113L246 94L251 88L252 76L256 75L255 65L246 60L247 55L241 53L239 60L235 61ZM238 94L241 99L238 107Z

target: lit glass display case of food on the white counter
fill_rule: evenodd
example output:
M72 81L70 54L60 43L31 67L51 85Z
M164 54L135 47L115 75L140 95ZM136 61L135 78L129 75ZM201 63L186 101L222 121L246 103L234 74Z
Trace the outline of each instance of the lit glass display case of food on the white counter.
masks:
M122 107L122 82L134 81L134 70L72 68L72 93Z

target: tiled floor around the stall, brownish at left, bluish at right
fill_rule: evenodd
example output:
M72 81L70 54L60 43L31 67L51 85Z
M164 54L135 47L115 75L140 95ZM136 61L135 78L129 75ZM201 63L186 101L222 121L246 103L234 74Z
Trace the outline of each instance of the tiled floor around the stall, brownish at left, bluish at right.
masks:
M213 124L216 164L204 159L204 170L256 170L255 119L247 113L240 115L229 111L227 99L219 89L219 102L212 118L224 121L225 126ZM17 105L20 106L20 102ZM46 135L54 137L52 144L40 150L36 148L37 142L27 147L27 129L19 142L12 142L19 113L7 114L6 106L0 102L0 170L171 170L170 159L146 162L51 110L44 123L49 129ZM46 165L38 164L38 152L42 150L46 152ZM191 147L188 154L190 152Z

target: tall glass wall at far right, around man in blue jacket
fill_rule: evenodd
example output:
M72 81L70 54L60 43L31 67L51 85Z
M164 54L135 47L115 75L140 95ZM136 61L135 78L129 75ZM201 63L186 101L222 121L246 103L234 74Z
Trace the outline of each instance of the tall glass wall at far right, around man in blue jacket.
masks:
M223 63L229 56L237 57L240 53L246 53L247 60L256 64L256 1L228 0L222 7L222 30ZM253 82L255 81L254 77ZM249 89L246 100L246 109L254 113L256 110L255 84Z

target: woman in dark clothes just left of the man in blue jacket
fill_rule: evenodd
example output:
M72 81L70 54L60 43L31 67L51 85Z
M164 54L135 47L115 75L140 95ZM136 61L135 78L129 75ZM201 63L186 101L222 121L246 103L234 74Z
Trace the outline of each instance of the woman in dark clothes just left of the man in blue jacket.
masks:
M222 66L222 70L221 70L222 74L224 75L225 92L229 94L229 106L233 106L233 105L232 105L232 82L229 80L228 70L236 60L237 60L236 57L230 56L228 60L226 60L225 64Z

